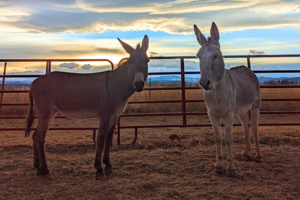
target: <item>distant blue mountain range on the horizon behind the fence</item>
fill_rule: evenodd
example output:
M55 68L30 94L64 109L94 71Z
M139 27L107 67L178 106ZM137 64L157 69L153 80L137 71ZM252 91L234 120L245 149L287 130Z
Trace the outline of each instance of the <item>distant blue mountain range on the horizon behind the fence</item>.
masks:
M289 82L299 82L300 83L300 77L280 77L280 78L272 78L272 77L264 77L264 76L258 76L257 77L259 82L268 82L268 81L283 81L287 80ZM194 78L194 77L184 77L186 83L194 84L198 83L200 78ZM32 81L34 79L28 78L28 79L20 79L18 78L13 79L5 79L5 85L31 85ZM148 77L147 82L150 82L150 77ZM181 77L176 75L167 75L167 76L158 76L158 77L151 77L151 83L158 83L158 84L180 84L181 83Z

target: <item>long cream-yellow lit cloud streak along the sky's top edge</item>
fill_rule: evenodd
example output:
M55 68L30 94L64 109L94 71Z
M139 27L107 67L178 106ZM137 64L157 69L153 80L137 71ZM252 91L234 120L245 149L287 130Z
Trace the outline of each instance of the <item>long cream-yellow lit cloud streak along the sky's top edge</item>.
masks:
M102 0L78 0L76 1L76 7L82 10L88 10L98 13L105 12L126 12L126 13L141 13L148 12L151 15L159 14L181 14L181 13L201 13L211 12L219 10L238 9L246 7L260 7L262 4L271 4L273 7L282 4L282 1L278 0L267 0L260 1L249 0L249 1L228 1L228 0L212 0L212 1L201 1L201 0L173 0L173 1L162 1L162 0L140 0L139 4L135 0L116 0L108 1ZM284 2L284 1L283 1ZM284 2L285 6L278 7L278 10L289 9L291 12L295 12L297 7L291 7L290 4L296 1ZM270 7L271 8L271 7ZM259 8L255 10L259 11ZM274 10L267 9L268 12L274 12Z

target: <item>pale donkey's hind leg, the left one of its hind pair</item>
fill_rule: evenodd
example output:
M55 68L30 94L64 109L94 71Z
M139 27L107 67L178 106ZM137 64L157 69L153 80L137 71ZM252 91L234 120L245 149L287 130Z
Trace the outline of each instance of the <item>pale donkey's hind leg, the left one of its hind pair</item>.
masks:
M249 121L247 113L238 115L238 118L240 118L243 128L244 128L244 132L245 132L245 151L243 152L242 160L251 160L251 157L250 157L250 151L251 151L250 121Z

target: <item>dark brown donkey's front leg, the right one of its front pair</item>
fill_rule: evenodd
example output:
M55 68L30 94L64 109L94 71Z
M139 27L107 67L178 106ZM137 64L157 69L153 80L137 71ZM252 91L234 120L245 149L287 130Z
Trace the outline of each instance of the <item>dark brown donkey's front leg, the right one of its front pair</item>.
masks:
M116 128L116 124L114 124L107 133L107 138L104 147L103 154L103 163L105 164L105 173L112 174L113 173L113 165L110 163L110 146L113 142L113 131Z

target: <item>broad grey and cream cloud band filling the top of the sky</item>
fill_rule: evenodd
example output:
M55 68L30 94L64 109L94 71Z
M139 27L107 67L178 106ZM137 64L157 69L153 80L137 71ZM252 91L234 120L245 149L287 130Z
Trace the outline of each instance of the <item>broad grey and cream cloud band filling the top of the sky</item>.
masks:
M212 19L221 32L278 27L299 29L299 17L294 13L300 13L298 0L141 0L139 4L135 0L34 3L24 0L3 3L0 27L30 33L151 30L187 35L193 34L194 23L209 33Z

